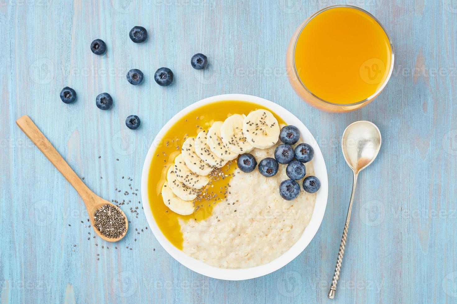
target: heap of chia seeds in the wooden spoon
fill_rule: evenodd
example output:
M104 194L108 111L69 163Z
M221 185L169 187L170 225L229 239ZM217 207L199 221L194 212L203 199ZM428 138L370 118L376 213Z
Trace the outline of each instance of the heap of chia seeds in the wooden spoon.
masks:
M118 238L125 231L125 216L119 208L103 205L94 213L95 227L105 237Z

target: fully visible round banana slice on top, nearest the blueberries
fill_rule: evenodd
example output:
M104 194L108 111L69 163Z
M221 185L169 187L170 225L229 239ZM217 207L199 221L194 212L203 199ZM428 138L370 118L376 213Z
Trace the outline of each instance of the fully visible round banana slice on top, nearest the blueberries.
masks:
M243 121L243 132L254 148L267 149L276 144L280 131L273 114L261 109L246 116Z

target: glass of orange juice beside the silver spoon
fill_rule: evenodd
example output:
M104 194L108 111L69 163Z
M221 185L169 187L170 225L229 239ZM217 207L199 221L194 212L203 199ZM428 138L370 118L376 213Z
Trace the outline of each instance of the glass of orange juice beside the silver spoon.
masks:
M371 102L393 71L393 45L383 25L352 5L334 5L305 20L287 48L292 88L307 103L346 112Z

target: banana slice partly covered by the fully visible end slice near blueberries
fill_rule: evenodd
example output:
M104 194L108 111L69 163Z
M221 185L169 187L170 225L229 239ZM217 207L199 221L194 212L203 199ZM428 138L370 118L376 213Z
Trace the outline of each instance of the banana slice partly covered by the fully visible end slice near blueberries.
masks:
M246 116L233 114L225 119L221 126L221 139L230 151L236 154L249 153L254 147L243 133L243 121Z

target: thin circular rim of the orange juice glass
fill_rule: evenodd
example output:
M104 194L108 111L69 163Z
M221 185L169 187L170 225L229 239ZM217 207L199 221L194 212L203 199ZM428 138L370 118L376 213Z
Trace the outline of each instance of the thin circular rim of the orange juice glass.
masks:
M383 84L381 85L381 87L379 87L375 93L373 93L371 96L368 96L367 98L361 100L361 101L357 101L355 103L331 103L327 100L324 100L318 96L316 96L313 92L311 92L306 86L305 84L303 83L303 81L300 79L300 77L298 76L298 72L297 72L297 67L295 66L295 48L297 46L297 41L298 41L298 37L300 37L300 34L302 33L303 29L305 28L305 26L309 23L309 21L311 21L314 17L316 17L317 15L319 15L320 13L326 11L326 10L330 10L330 9L333 9L335 7L349 7L349 8L353 8L353 9L356 9L356 10L360 10L361 12L369 15L370 17L373 18L374 21L377 22L377 24L379 24L379 26L381 26L381 28L383 29L384 33L386 34L387 38L388 38L388 41L389 41L389 44L390 44L390 50L391 50L391 63L390 63L390 69L389 69L389 73L388 73L388 76L386 78L386 80L384 80ZM297 34L297 37L295 38L295 41L293 42L293 48L292 48L292 62L293 62L293 71L295 73L295 76L297 77L298 81L300 82L300 84L303 86L303 88L308 92L310 93L311 95L313 95L315 98L319 99L320 101L324 102L324 103L328 103L328 104L331 104L331 105L336 105L336 106L340 106L340 107L345 107L345 106L354 106L354 105L358 105L358 104L361 104L361 103L366 103L367 101L371 101L372 99L374 99L377 94L381 93L381 91L385 88L385 86L387 85L387 82L389 81L390 77L392 76L392 72L393 72L393 62L394 62L394 51L393 51L393 44L392 44L392 39L390 38L389 36L389 33L387 32L386 28L383 26L383 24L381 23L381 21L377 20L377 18L375 16L373 16L372 14L370 14L368 11L360 8L360 7L357 7L357 6L354 6L354 5L346 5L346 4L340 4L340 5L331 5L331 6L328 6L328 7L325 7L321 10L318 10L317 12L315 12L313 15L309 16L308 19L305 21L305 23L303 24L303 26L300 28L300 31L298 31L298 34Z

